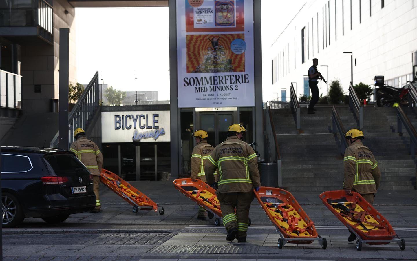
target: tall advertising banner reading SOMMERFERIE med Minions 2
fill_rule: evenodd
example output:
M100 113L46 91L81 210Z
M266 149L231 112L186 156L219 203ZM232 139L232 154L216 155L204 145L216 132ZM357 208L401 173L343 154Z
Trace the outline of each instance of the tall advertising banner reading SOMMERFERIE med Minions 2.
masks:
M253 0L177 0L178 107L254 106Z

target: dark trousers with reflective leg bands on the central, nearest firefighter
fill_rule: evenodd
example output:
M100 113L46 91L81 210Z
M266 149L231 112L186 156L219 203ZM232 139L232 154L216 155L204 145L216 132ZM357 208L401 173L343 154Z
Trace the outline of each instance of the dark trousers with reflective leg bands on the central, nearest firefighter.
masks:
M220 202L226 231L237 228L236 238L246 238L249 226L249 208L255 198L254 192L251 190L249 192L219 193L217 198Z

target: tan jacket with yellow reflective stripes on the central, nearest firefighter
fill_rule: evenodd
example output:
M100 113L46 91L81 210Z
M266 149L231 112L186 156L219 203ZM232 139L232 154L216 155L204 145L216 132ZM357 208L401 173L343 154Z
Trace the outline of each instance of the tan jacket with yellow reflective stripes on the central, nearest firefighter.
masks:
M219 170L219 193L249 192L261 186L258 158L254 149L238 137L228 137L208 157L205 167L208 184L214 182L214 170Z

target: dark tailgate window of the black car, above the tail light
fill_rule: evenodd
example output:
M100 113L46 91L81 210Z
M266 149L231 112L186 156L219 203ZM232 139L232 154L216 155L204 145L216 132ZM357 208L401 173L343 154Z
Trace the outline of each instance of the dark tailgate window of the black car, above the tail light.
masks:
M72 154L50 154L43 157L49 171L56 175L88 172L87 168Z

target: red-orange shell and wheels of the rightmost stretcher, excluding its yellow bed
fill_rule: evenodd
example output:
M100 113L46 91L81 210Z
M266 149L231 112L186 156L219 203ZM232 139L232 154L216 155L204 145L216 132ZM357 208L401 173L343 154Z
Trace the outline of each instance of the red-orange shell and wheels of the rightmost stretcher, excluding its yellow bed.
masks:
M349 228L349 231L352 231L357 236L356 248L358 251L361 251L362 244L368 245L386 245L390 242L396 242L401 250L405 248L405 240L400 238L397 233L395 233L389 221L384 218L381 213L379 213L369 202L367 202L359 193L352 191L352 195L346 195L344 190L330 190L325 191L319 195L319 198L323 201L324 205L343 223L344 226ZM344 201L346 199L347 201ZM362 230L348 223L343 216L338 213L328 202L328 200L333 200L332 203L337 203L337 200L340 202L354 202L359 205L362 209L369 212L375 220L378 221L379 225L383 226L385 229L374 230L375 232L370 234L364 233ZM335 201L334 201L335 200ZM397 239L394 239L397 237Z

